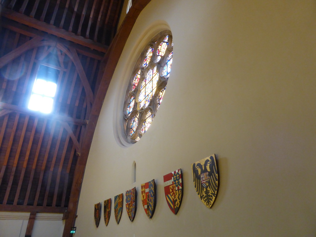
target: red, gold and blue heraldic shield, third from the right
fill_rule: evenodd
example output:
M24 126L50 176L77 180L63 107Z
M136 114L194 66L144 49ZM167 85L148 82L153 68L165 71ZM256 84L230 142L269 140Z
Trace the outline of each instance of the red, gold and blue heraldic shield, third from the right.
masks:
M156 208L156 184L155 179L141 185L142 203L149 219L154 215Z

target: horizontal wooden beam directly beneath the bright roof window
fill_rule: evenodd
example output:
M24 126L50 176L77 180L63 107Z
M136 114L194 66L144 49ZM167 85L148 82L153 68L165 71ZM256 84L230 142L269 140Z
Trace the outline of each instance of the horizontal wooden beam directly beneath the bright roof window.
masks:
M82 120L82 119L75 119L67 116L62 116L62 115L54 115L54 114L43 114L40 112L32 111L29 110L28 108L17 106L17 105L11 105L7 103L0 102L0 109L10 109L13 112L19 112L19 113L24 113L30 116L35 116L39 118L44 118L44 119L52 119L60 122L69 122L69 123L74 123L77 125L86 125L87 120Z

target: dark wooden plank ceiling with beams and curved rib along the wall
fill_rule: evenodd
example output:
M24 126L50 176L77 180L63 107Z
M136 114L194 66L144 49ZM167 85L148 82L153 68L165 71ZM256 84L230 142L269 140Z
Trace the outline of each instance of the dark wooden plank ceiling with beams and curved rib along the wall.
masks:
M150 0L4 0L0 32L0 211L76 208L102 102L131 29ZM27 108L40 65L59 70L50 114Z

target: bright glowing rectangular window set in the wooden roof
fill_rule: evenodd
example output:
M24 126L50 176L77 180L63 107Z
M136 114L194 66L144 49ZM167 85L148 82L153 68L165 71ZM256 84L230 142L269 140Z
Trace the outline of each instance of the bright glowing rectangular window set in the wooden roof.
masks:
M58 76L58 69L40 65L28 103L30 110L42 113L52 112Z

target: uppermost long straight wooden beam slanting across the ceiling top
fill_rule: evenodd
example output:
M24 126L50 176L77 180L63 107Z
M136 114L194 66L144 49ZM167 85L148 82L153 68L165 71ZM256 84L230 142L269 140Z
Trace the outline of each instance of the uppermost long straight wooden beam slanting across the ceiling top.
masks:
M36 19L28 17L27 15L23 15L21 13L15 12L13 10L4 8L4 9L2 9L1 14L2 14L2 16L6 17L10 20L20 22L24 25L27 25L27 26L33 27L35 29L47 32L47 33L55 35L57 37L61 37L65 40L69 40L71 42L80 44L82 46L86 46L90 49L94 49L94 50L104 52L104 53L107 50L107 46L105 46L101 43L94 42L93 40L85 39L82 36L77 36L75 33L71 33L71 32L68 32L64 29L60 29L60 28L57 28L57 27L52 26L50 24L47 24L45 22L38 21Z

